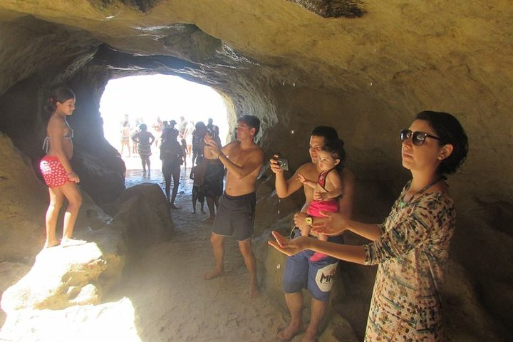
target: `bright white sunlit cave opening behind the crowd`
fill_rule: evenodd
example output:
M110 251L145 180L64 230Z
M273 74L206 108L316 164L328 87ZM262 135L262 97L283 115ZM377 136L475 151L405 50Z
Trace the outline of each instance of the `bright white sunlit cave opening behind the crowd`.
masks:
M227 107L216 90L209 86L187 81L179 76L162 74L145 76L128 76L108 81L100 99L100 114L103 120L105 139L115 147L127 167L126 177L136 177L140 170L140 160L133 141L128 141L128 147L123 146L123 128L136 133L139 125L145 123L148 131L155 136L152 145L152 170L160 169L158 148L160 146L160 124L171 123L175 120L175 128L180 128L181 117L187 122L187 130L193 129L199 121L208 123L213 120L219 127L219 137L222 143L229 142L229 121ZM128 120L126 128L125 121ZM187 135L186 135L187 137ZM187 145L190 144L187 138ZM185 165L190 168L191 156L187 155ZM135 180L127 180L132 183Z

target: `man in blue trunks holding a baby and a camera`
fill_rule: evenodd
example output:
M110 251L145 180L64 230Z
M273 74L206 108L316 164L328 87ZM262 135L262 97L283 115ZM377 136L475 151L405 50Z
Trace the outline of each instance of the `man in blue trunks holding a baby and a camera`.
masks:
M312 130L310 136L310 157L311 162L301 165L296 173L289 179L285 180L284 170L278 165L276 159L271 159L271 170L276 174L276 194L280 198L288 197L297 190L304 190L306 202L301 209L294 215L294 223L299 227L298 234L301 231L308 234L308 225L311 224L311 217L306 214L310 202L314 199L314 189L303 185L298 178L298 174L304 175L309 180L316 180L321 173L317 166L318 151L324 145L327 145L338 139L338 134L334 128L328 126L318 126ZM277 157L277 156L274 156ZM344 195L339 199L339 212L343 212L346 217L351 217L353 212L353 193L355 177L344 167L341 174L343 181ZM313 233L311 233L313 234ZM316 238L311 236L312 238ZM341 243L341 237L330 238L328 241ZM289 341L297 333L303 330L303 293L302 289L306 288L311 294L311 319L303 341L316 341L318 326L326 314L328 309L329 294L331 285L333 284L333 274L335 274L337 259L327 257L320 261L311 261L310 257L313 251L304 251L292 257L287 257L284 275L283 275L283 291L285 293L285 301L291 314L291 322L286 328L279 331L278 338L281 341Z

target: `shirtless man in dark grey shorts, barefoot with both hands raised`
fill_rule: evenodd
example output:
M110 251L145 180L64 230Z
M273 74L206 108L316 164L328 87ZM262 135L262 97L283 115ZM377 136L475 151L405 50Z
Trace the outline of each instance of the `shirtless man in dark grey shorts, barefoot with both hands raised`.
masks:
M257 203L255 182L264 162L264 152L254 142L259 129L260 120L256 116L244 115L237 120L237 141L221 147L210 135L204 138L209 151L228 172L210 236L216 266L203 274L203 279L224 274L224 237L234 235L249 271L249 296L252 298L259 295L257 262L251 245Z

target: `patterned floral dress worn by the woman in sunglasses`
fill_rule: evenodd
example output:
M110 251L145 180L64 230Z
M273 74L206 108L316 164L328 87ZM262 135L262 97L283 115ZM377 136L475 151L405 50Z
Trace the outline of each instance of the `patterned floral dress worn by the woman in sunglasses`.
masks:
M364 246L365 263L379 264L365 341L442 341L440 286L455 228L454 202L432 192L404 204L410 182L378 224L379 239Z

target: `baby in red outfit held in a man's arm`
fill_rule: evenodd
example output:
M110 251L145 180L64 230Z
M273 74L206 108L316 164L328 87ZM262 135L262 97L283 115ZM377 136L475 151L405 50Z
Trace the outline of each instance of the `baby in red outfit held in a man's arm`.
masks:
M338 212L338 197L343 195L343 182L340 173L346 159L346 151L343 148L343 141L337 140L333 145L326 145L318 152L318 168L321 175L317 182L308 180L299 174L299 181L314 188L314 200L310 203L308 214L311 217L323 217L323 212ZM310 233L310 232L309 232ZM318 234L318 239L328 241L325 234ZM314 253L311 261L319 261L326 257L326 254Z

